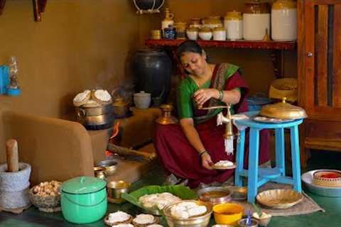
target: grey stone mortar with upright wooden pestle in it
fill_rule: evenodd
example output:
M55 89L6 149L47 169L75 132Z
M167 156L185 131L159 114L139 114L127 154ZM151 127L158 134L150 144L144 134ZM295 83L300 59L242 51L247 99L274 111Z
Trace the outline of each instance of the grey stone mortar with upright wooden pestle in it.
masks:
M31 165L18 162L18 142L7 140L7 163L0 165L0 208L20 209L30 204Z

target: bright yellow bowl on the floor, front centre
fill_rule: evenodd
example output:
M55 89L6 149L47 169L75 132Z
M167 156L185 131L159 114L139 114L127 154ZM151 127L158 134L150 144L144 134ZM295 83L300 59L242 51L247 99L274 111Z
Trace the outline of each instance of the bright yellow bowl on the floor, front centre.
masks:
M215 223L220 225L237 225L242 219L244 208L238 204L218 204L213 206Z

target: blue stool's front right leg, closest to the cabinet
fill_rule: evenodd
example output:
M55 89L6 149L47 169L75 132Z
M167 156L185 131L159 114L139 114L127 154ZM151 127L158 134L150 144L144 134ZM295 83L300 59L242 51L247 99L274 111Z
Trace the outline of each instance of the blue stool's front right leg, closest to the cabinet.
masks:
M290 128L291 137L291 165L293 165L293 188L296 192L302 192L301 187L301 163L300 163L300 143L298 141L298 126Z

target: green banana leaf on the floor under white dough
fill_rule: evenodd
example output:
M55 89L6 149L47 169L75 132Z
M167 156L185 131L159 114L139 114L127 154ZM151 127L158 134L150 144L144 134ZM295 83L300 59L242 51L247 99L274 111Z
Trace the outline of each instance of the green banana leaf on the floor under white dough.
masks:
M175 196L178 196L180 199L197 199L197 194L193 192L193 190L191 190L189 187L185 187L183 185L150 185L146 187L141 187L141 189L137 189L136 191L129 194L123 193L121 194L121 198L126 199L126 201L129 201L135 206L139 206L141 209L146 209L142 205L142 203L139 202L139 197L144 196L145 194L156 194L163 192L169 192Z

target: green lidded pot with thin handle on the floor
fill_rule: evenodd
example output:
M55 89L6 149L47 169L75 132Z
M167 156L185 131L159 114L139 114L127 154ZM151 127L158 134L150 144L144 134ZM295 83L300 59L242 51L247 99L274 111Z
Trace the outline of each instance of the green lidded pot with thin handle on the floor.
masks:
M63 182L60 204L72 223L91 223L107 212L107 182L97 177L75 177Z

